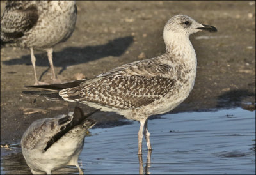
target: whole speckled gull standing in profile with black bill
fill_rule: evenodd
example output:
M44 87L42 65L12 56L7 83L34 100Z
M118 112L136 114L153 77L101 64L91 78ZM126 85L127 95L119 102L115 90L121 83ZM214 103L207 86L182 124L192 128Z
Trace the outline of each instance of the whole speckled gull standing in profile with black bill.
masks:
M196 54L189 35L198 31L217 29L186 15L176 15L164 27L166 53L161 56L122 65L83 82L26 87L51 90L39 93L47 98L60 96L68 102L84 103L140 121L138 153L141 154L143 134L148 149L152 149L148 117L177 107L194 86Z

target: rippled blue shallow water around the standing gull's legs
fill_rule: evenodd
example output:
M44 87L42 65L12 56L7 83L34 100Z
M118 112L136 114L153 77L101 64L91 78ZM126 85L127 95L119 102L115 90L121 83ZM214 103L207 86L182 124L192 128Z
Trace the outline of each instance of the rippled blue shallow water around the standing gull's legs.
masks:
M134 121L91 129L79 160L84 174L255 174L255 111L186 112L150 120L153 150L148 152L143 140L142 157L137 154L139 127ZM11 149L12 154L1 155L1 174L29 173L19 146Z

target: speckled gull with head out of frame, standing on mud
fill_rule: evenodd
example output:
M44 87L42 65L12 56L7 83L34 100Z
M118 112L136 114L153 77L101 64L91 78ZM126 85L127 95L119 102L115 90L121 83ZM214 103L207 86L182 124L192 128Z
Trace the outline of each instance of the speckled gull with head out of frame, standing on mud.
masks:
M76 1L7 1L1 17L1 45L29 48L36 76L34 49L45 50L53 82L58 80L52 63L54 45L65 42L76 24Z

